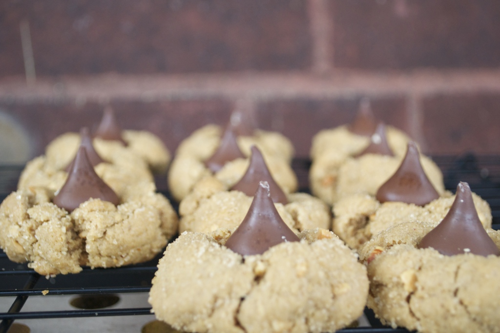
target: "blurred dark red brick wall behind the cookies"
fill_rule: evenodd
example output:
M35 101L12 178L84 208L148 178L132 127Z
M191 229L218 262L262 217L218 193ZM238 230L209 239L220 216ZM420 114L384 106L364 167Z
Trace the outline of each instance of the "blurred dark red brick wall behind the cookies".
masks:
M498 0L4 0L0 115L29 157L107 104L174 150L244 101L303 157L368 97L427 153L500 153L498 17Z

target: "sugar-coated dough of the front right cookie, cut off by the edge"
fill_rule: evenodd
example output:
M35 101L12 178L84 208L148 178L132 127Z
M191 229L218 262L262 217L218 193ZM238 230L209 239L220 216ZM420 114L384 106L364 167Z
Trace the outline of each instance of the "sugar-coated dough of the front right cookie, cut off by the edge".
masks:
M434 226L401 223L359 249L370 279L368 307L392 327L421 332L498 332L500 257L447 256L432 248L416 248ZM486 231L500 247L500 231Z

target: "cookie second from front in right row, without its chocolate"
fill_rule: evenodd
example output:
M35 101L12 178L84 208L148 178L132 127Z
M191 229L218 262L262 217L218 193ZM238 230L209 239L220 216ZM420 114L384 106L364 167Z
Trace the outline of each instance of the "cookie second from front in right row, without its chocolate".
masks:
M436 225L446 215L455 195L445 192L424 206L405 202L380 203L373 195L353 194L333 206L332 230L351 248L358 248L380 231L404 222L422 221ZM472 198L484 227L491 227L489 204L477 194Z

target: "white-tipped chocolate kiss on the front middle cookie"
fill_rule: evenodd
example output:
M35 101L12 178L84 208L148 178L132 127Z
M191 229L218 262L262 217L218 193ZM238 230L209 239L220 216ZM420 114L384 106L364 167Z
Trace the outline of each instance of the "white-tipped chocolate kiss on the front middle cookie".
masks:
M298 241L279 216L267 181L260 181L245 218L227 239L225 246L241 255L262 254L283 241Z

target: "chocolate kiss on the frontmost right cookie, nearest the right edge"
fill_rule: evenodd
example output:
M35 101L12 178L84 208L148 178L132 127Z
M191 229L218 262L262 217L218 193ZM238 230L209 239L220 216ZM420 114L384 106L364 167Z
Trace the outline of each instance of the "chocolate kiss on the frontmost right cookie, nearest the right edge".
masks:
M467 252L484 256L500 255L477 216L466 182L460 182L456 187L455 200L446 216L420 240L418 248L427 247L444 255Z

